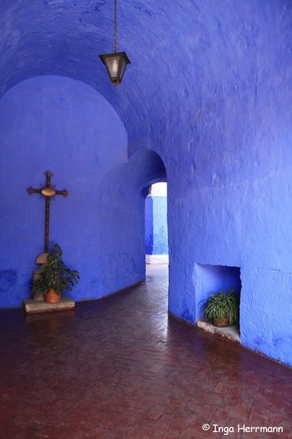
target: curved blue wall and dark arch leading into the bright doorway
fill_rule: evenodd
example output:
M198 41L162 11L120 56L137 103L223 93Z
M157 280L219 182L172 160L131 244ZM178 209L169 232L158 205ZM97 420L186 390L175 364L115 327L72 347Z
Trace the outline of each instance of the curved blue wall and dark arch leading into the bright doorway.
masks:
M105 295L145 278L145 198L149 186L166 180L165 165L152 150L138 150L104 177L100 242Z

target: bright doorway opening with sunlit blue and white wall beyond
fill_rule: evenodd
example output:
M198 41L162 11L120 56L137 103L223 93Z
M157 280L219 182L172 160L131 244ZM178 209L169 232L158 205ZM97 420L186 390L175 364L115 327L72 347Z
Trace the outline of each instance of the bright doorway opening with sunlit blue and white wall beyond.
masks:
M151 185L145 198L145 262L169 263L167 182Z

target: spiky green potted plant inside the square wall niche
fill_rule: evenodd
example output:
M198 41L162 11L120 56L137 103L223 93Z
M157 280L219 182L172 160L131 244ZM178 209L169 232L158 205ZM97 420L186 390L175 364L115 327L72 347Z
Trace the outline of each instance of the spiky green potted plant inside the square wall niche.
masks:
M220 289L217 294L206 299L204 317L215 327L239 324L239 294L232 287L227 292Z

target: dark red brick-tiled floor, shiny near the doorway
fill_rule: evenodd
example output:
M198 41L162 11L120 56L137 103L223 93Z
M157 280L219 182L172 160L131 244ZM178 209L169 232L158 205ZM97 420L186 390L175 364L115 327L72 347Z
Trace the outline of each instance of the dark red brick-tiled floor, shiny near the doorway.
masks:
M164 266L75 311L1 311L0 333L1 438L292 438L291 370L169 318Z

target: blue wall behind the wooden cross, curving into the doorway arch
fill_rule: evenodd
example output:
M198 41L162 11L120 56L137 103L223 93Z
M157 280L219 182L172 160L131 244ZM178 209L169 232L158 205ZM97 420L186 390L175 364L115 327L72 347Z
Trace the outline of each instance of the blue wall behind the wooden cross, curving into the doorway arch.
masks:
M45 201L27 187L38 188L48 169L69 191L51 202L50 246L60 244L80 271L71 297L101 298L145 278L145 187L165 167L149 150L127 159L127 133L104 97L71 78L21 82L0 101L0 144L0 307L30 296Z

